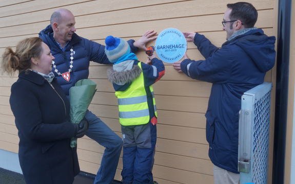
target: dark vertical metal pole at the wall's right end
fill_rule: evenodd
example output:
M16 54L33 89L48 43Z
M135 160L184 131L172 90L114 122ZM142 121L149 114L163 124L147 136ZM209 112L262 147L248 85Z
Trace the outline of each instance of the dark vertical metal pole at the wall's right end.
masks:
M272 168L273 184L284 183L289 82L290 18L291 0L279 0L276 112L274 118Z

